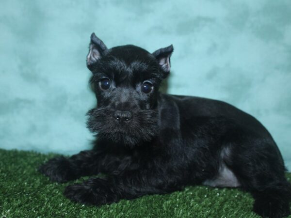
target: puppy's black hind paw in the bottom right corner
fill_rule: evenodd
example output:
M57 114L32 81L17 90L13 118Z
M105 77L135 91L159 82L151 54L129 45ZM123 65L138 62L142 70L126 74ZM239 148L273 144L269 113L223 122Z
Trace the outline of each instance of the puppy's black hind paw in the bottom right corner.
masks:
M290 215L290 207L288 201L275 199L255 200L254 212L263 218L282 218Z

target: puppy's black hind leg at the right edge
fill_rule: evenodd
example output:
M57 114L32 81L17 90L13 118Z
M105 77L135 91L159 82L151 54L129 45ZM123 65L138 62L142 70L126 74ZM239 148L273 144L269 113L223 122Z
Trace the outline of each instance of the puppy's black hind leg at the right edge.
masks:
M290 215L291 184L285 178L275 142L240 135L230 144L224 161L238 177L242 189L253 195L254 212L269 218Z

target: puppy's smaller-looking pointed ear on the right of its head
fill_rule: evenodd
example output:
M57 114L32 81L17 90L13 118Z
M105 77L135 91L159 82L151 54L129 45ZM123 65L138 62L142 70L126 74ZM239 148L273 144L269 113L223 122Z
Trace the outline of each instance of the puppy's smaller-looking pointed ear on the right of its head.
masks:
M160 48L153 53L153 55L158 60L161 66L161 69L167 74L170 72L170 69L171 69L170 58L173 51L174 51L174 47L173 45L170 45L168 47Z

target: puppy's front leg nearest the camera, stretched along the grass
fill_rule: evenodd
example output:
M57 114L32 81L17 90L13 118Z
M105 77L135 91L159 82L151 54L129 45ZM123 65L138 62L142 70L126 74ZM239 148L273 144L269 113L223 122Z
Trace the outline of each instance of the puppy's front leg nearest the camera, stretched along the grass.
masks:
M146 194L164 194L181 189L180 179L166 170L133 170L107 179L92 178L65 188L65 196L75 202L101 205L134 199Z

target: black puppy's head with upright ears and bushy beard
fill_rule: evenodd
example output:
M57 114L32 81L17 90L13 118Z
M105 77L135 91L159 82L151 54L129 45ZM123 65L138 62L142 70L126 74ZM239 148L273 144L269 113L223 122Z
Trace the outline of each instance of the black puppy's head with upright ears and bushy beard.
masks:
M170 72L173 46L156 50L127 45L108 49L91 35L87 67L97 108L88 112L88 128L98 138L129 147L158 133L158 91Z

